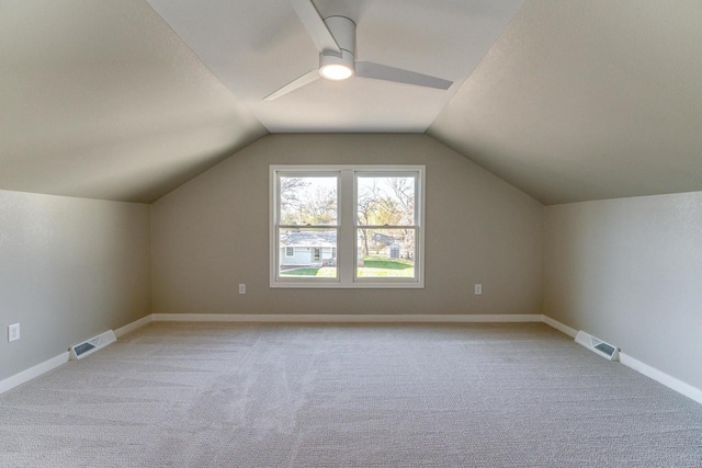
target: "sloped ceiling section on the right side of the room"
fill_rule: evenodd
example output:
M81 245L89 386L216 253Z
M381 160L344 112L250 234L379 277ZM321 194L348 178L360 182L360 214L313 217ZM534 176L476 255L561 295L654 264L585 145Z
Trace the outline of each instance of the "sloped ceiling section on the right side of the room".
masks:
M702 2L531 0L428 133L544 204L702 190Z

